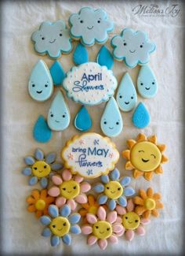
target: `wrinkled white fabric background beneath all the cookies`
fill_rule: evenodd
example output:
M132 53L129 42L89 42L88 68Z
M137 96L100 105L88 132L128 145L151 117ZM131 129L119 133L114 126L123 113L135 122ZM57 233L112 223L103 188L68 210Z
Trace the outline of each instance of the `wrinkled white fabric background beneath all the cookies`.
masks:
M182 148L184 132L183 128L183 5L179 2L180 13L177 17L140 17L132 13L132 8L139 2L5 2L2 9L2 100L3 100L3 250L9 253L26 254L54 254L74 253L79 254L139 254L139 253L176 253L182 247ZM142 3L142 2L140 2ZM156 3L156 2L155 2ZM151 2L143 2L150 6ZM165 9L172 2L159 2L158 6ZM151 124L139 130L133 127L131 113L122 113L124 128L122 133L113 139L118 150L126 149L126 139L135 138L139 132L147 135L158 135L160 143L167 144L165 154L169 157L169 163L164 166L164 174L154 176L151 182L142 177L132 180L132 185L138 190L150 185L155 191L161 191L164 210L161 217L153 218L147 226L147 235L136 236L129 243L123 237L117 245L108 245L105 251L99 247L88 247L86 237L73 236L71 247L52 248L49 239L42 238L42 224L27 213L25 198L29 195L31 187L27 186L27 177L21 175L24 167L24 156L33 154L34 149L41 147L45 153L55 150L60 160L60 150L71 135L77 134L73 121L78 112L79 105L67 99L71 110L71 125L64 132L54 132L53 139L49 143L36 143L32 138L32 128L39 114L45 117L52 99L47 102L34 102L27 94L27 80L31 69L38 58L42 58L47 65L53 61L47 56L39 57L33 50L31 33L38 28L44 20L55 21L67 19L71 13L76 13L82 6L102 7L114 20L115 28L110 38L118 34L123 28L143 30L156 43L157 51L151 54L151 68L158 77L158 95L152 99L139 101L146 103L151 113ZM110 47L110 40L107 42ZM89 49L90 60L96 59L96 53L100 46ZM63 55L60 58L63 69L67 72L73 62L72 54ZM126 70L132 76L136 84L139 68L127 69L123 63L114 62L113 72L118 82ZM56 89L55 93L56 94ZM54 97L53 95L53 97ZM91 131L100 132L100 117L105 104L96 107L88 107L93 117ZM124 169L125 160L120 158L118 168L124 175L131 176L130 171Z

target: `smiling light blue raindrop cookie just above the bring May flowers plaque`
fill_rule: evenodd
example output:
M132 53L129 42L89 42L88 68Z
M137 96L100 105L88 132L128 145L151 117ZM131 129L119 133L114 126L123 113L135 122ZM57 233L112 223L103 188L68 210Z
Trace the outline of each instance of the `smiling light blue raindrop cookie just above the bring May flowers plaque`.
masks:
M107 102L107 105L101 117L100 125L104 135L107 135L109 137L118 136L120 132L122 132L122 115L119 111L118 105L114 97L111 97L110 100Z

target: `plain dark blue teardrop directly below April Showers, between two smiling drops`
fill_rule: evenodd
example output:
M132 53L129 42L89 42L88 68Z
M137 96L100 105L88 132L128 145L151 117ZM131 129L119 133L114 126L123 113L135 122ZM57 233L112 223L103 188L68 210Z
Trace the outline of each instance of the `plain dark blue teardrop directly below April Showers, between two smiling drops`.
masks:
M92 120L89 112L82 106L74 119L74 126L81 132L86 132L92 127Z

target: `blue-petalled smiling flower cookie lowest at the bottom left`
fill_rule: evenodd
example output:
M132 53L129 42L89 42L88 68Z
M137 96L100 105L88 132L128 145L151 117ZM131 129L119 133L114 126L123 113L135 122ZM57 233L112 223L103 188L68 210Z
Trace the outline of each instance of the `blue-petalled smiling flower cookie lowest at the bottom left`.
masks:
M49 216L44 215L40 218L42 224L46 225L42 231L42 236L51 236L51 245L56 247L62 240L63 243L71 245L71 235L80 234L81 228L78 226L80 214L71 214L71 208L67 205L60 208L55 205L49 206Z

